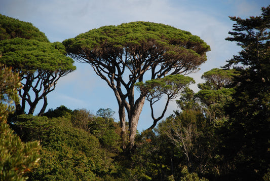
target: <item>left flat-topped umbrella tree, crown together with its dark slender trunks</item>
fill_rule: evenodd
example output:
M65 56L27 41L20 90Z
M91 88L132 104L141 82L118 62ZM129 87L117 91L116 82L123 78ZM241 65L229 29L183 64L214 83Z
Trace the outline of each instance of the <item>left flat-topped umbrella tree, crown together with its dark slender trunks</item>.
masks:
M55 89L60 77L73 71L73 60L66 57L64 46L59 43L40 42L15 38L0 41L0 62L12 66L20 74L23 89L19 90L22 104L17 108L20 113L25 111L26 101L30 105L28 114L33 114L37 102L44 99L44 113L47 105L47 94ZM31 98L30 90L34 92Z

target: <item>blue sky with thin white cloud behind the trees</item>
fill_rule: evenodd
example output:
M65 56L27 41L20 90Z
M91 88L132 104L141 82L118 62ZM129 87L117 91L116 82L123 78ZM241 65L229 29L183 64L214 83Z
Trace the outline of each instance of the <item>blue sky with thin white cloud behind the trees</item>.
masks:
M258 16L268 0L0 0L0 13L22 21L31 22L43 31L51 42L62 42L93 28L118 25L131 21L163 23L198 35L211 47L208 60L193 77L202 82L201 75L212 68L220 67L239 52L236 43L227 42L228 31L234 24L228 16L247 18ZM86 108L96 113L99 108L111 108L118 112L112 90L95 75L88 64L75 62L77 70L61 78L56 90L48 94L48 108L60 105L74 110ZM197 91L197 86L191 86ZM39 106L37 107L37 109ZM163 102L156 106L162 111ZM169 105L165 116L176 110L175 101ZM114 117L118 119L118 115ZM158 115L157 115L158 117ZM147 129L152 123L149 103L145 102L138 130Z

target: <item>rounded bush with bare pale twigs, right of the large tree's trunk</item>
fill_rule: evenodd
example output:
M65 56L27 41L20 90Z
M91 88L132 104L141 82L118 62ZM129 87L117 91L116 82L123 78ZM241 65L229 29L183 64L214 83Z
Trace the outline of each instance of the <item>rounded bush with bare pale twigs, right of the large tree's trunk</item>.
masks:
M213 128L203 113L195 110L183 111L178 116L161 122L157 132L168 137L183 154L182 159L186 161L189 170L204 173L209 168Z

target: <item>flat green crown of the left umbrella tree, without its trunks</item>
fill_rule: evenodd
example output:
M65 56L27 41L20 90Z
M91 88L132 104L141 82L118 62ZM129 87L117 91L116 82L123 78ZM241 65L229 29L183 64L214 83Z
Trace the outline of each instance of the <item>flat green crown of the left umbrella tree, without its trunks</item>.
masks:
M0 42L0 62L22 72L43 69L47 71L74 70L73 60L66 57L60 42L47 43L15 38Z

